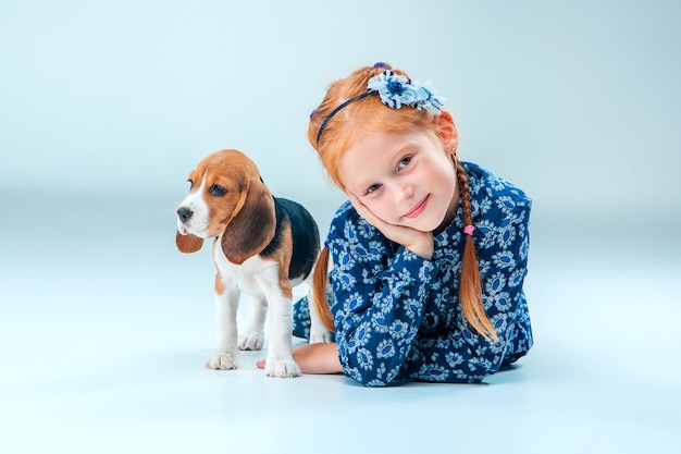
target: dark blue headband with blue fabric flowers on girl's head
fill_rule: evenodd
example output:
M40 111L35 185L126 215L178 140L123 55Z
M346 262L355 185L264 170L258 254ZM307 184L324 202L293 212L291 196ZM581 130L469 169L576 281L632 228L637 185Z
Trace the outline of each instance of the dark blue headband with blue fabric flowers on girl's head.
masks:
M384 68L385 63L379 62L374 64L374 68ZM367 84L367 91L348 99L340 106L335 108L329 116L324 119L322 125L317 133L317 143L322 136L322 132L329 123L329 120L333 118L338 111L345 108L347 105L367 98L369 96L379 96L381 102L392 109L401 109L403 106L409 106L414 109L426 111L434 115L438 115L441 109L444 106L445 98L435 95L435 89L430 82L420 84L417 81L412 81L401 75L395 74L393 71L384 71L381 74L373 76ZM310 114L312 116L314 111Z

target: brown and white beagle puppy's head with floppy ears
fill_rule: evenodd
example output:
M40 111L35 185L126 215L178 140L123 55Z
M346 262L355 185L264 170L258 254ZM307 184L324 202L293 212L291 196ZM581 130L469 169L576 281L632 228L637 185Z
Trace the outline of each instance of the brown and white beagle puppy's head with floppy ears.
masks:
M222 235L227 259L240 265L274 236L274 200L256 163L237 150L206 157L189 173L189 194L177 208L175 244L195 253L205 238Z

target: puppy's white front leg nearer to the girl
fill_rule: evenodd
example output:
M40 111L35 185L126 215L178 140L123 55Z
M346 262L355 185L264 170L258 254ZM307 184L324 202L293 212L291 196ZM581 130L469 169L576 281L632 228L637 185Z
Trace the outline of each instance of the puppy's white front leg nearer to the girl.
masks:
M274 292L268 296L268 302L270 339L264 371L270 377L298 377L300 368L292 354L293 300L281 292Z

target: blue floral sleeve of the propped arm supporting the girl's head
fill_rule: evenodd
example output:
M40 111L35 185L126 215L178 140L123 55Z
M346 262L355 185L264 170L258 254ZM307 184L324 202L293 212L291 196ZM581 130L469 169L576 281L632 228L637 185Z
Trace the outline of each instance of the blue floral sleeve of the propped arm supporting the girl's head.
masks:
M401 376L434 268L345 208L329 233L338 356L359 383L386 385Z

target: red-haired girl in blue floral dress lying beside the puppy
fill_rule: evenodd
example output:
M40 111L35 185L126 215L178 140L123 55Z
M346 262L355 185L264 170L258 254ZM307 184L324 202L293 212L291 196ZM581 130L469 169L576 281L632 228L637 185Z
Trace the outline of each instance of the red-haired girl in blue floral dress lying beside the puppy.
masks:
M531 200L459 161L451 114L388 64L329 88L308 137L349 200L331 223L314 289L336 343L298 347L304 372L370 386L480 382L532 346L522 290ZM327 274L329 255L333 269ZM295 333L309 326L307 300Z

